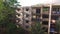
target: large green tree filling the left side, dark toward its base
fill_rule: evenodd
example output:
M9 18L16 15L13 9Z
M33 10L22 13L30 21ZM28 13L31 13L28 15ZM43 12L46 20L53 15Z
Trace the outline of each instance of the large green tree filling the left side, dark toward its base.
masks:
M17 0L0 0L0 30L1 34L13 34L17 27L15 25L15 9ZM16 33L15 33L16 34Z

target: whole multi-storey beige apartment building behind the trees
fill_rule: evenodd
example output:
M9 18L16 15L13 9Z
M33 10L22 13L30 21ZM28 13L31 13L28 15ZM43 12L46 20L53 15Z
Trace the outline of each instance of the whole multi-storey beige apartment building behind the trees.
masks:
M16 10L16 22L24 29L31 30L31 25L41 23L48 34L57 34L56 23L60 20L59 4L38 4L30 7L21 7Z

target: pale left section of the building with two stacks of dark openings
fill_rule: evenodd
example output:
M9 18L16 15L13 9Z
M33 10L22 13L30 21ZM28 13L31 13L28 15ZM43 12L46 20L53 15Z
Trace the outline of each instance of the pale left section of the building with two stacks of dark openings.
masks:
M25 30L31 30L31 7L20 7L16 10L16 23L22 26Z

